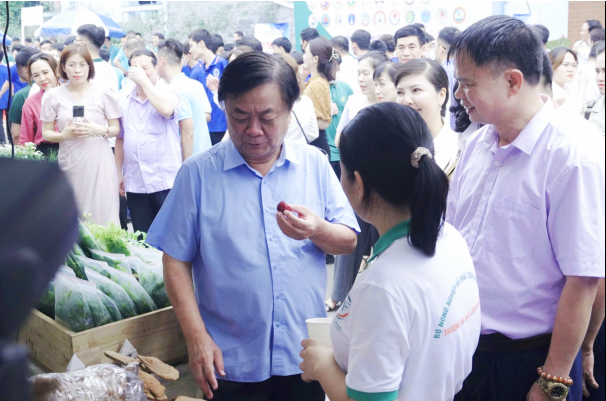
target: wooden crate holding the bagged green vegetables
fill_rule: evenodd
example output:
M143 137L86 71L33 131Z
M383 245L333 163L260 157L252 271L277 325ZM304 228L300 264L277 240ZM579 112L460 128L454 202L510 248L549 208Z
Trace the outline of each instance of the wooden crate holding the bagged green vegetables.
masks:
M32 358L52 372L64 372L73 354L85 366L111 363L104 351L120 351L125 339L139 354L155 356L163 362L174 363L187 358L185 337L173 307L79 333L33 310L19 332L19 342L27 345Z

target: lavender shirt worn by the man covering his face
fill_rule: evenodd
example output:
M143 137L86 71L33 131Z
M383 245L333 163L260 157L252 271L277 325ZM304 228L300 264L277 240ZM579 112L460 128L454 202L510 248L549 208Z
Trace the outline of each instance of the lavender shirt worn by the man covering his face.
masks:
M171 118L158 113L148 99L137 98L137 88L121 104L121 132L124 138L124 188L131 193L170 190L181 167L179 100L168 85L158 80L175 112Z

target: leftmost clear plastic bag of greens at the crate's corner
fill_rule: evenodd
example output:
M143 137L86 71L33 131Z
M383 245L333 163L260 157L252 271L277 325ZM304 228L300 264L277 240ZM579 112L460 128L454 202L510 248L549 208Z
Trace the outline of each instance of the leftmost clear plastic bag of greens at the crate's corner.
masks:
M80 285L62 273L55 276L55 320L76 333L95 327Z

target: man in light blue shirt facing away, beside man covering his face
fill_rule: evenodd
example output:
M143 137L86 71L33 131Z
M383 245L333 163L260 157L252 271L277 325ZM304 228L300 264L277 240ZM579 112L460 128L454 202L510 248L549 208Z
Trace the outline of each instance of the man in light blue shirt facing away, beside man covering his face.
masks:
M212 111L204 85L181 72L183 45L176 39L158 43L158 73L181 99L179 130L183 160L211 147L208 123Z

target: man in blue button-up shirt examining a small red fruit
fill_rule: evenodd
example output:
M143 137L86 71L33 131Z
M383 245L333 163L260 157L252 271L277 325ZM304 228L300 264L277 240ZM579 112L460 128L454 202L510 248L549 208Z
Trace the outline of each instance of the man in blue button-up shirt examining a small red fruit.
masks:
M191 370L215 401L324 401L301 379L305 319L326 316L325 253L353 251L359 227L327 157L284 141L298 97L282 59L228 64L230 140L184 162L147 234L164 251Z

